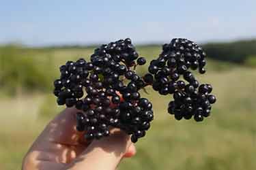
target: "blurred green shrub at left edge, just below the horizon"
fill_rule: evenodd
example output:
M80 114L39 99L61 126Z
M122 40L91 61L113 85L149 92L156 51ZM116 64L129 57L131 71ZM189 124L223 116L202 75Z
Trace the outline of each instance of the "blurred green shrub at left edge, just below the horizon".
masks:
M0 87L15 93L18 88L25 90L49 90L51 81L51 56L36 57L16 46L0 49Z

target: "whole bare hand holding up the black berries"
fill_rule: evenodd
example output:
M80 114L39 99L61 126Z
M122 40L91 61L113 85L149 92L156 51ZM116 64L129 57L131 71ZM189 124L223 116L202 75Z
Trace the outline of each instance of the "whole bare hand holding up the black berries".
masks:
M109 137L85 141L75 129L76 112L67 108L49 122L25 155L23 170L113 170L122 158L134 156L130 136L118 129Z

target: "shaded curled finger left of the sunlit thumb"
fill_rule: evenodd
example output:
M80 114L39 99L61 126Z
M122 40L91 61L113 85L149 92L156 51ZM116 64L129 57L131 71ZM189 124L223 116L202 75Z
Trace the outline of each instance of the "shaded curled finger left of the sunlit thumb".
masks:
M48 160L55 163L70 163L71 160L81 154L88 144L83 133L76 131L77 110L68 108L63 110L51 122L35 140L29 153L38 152L37 160ZM82 141L82 139L84 139Z

